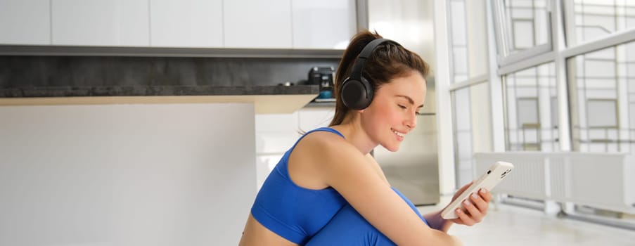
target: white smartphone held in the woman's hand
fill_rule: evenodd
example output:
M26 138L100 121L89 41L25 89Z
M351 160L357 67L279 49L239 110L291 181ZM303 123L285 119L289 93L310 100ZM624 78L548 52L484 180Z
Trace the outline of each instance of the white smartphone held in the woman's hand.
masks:
M489 167L489 169L485 171L485 174L483 174L479 179L474 181L474 183L472 183L470 187L468 187L465 191L463 191L463 193L461 193L461 195L459 195L458 198L454 200L454 202L451 202L450 205L448 205L445 209L443 209L443 211L441 212L441 217L443 219L458 218L458 215L456 215L455 210L458 207L461 207L461 209L465 210L465 208L462 206L464 200L469 198L469 196L472 195L472 193L477 193L478 190L480 190L480 188L492 190L492 188L494 188L494 186L499 184L501 180L505 179L507 174L509 174L511 170L513 169L514 169L514 165L509 162L494 163L492 167Z

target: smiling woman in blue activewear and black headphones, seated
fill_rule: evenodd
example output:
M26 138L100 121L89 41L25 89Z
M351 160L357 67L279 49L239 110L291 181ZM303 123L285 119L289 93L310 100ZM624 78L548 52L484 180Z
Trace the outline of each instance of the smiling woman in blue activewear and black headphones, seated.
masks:
M447 230L480 222L489 192L466 200L458 219L421 216L369 154L378 145L399 150L416 127L428 70L377 33L353 37L336 75L333 121L304 134L271 171L240 245L460 245Z

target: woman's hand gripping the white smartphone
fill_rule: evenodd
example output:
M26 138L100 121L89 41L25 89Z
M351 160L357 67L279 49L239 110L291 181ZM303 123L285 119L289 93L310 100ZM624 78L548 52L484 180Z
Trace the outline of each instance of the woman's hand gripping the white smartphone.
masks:
M461 195L464 190L466 190L473 182L466 184L461 187L460 190L454 194L452 201L456 200L458 195ZM492 194L489 193L489 190L485 190L485 188L481 188L477 193L473 193L469 196L468 199L464 200L462 203L462 207L456 209L456 214L458 218L451 219L450 221L455 224L461 224L466 226L473 226L480 221L482 221L483 217L487 214L487 208L489 207L489 201L492 200ZM465 209L463 209L463 207Z

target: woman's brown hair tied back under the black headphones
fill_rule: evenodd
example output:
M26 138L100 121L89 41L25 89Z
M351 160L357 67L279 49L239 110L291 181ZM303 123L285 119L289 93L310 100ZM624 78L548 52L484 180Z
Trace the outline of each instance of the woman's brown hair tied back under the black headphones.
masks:
M361 50L366 44L375 39L382 39L377 32L372 33L368 30L361 31L352 37L349 46L344 51L338 72L335 74L335 115L329 127L342 124L346 119L350 109L347 108L340 98L342 91L342 82L350 76L353 64ZM392 79L409 75L411 71L418 71L421 76L428 76L430 66L416 53L407 50L403 46L395 44L380 44L371 56L366 59L364 71L362 75L371 83L373 89L377 91L383 84L390 82Z

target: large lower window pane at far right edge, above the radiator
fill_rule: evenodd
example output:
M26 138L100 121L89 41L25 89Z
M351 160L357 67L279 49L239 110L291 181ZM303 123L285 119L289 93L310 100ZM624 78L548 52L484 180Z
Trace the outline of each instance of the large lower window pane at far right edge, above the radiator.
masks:
M573 149L635 153L635 41L567 60Z

